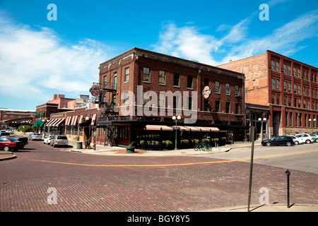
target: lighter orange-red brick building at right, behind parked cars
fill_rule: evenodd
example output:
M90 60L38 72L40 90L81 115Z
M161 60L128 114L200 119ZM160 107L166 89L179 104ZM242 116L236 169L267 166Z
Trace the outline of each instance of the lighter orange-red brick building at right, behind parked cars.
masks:
M250 125L265 117L271 136L317 131L316 67L269 50L218 67L245 73L245 102L269 106L268 113L247 115Z

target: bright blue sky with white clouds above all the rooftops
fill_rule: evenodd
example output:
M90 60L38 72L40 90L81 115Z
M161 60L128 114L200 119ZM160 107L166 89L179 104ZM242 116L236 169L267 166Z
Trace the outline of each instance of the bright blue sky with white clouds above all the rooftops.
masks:
M318 67L318 1L0 0L0 108L89 94L99 64L132 47L213 66L270 49Z

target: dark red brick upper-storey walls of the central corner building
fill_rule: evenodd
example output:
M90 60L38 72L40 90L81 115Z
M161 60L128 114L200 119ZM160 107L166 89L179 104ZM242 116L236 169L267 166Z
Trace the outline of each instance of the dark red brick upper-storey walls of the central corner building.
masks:
M122 105L124 105L122 95L129 90L134 93L135 97L134 100L128 100L129 105L134 105L134 115L129 116L130 120L139 120L143 117L146 118L146 120L171 122L172 114L176 115L177 110L179 110L182 112L180 114L182 123L186 123L185 119L189 119L190 117L183 114L183 109L187 109L187 107L184 106L183 101L187 102L188 100L183 99L184 92L188 91L190 97L192 97L192 92L197 93L197 95L192 97L192 113L196 114L196 124L209 124L211 126L242 126L245 124L245 80L242 73L139 48L129 49L129 51L105 61L100 64L99 69L100 84L114 83L115 76L117 77L115 109L119 111L119 120L127 119L120 109ZM127 73L128 69L129 79L128 81L125 81L125 73ZM144 75L145 71L148 74ZM165 75L164 82L160 83L160 81L163 81L163 75ZM178 84L175 82L177 76L179 76ZM160 98L160 91L171 91L172 93L180 92L182 94L182 100L179 101L182 104L179 105L179 107L171 106L169 105L168 100L165 99L164 106L160 106L161 104L158 101L151 107L151 110L157 108L159 112L158 106L160 106L160 109L165 111L164 115L152 115L151 118L149 118L144 112L143 114L139 114L140 112L138 112L137 105L140 106L144 104L144 102L141 103L138 100L139 85L142 85L142 90L144 92L153 91L156 93L158 99ZM208 99L205 99L201 94L205 85L209 85L212 90L211 97ZM218 85L220 90L217 93L216 86ZM228 94L226 93L227 89L229 90ZM193 100L193 98L195 98L195 100ZM111 95L106 95L106 100L110 102ZM194 106L194 102L197 103L196 106ZM218 102L220 105L219 109L216 108ZM172 110L172 114L168 113L170 110ZM230 126L228 126L227 129L235 130L232 128L230 129ZM241 132L240 136L243 136Z

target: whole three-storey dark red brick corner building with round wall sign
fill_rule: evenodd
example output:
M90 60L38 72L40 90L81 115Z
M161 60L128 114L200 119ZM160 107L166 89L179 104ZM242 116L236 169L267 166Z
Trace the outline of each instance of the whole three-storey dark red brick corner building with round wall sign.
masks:
M242 73L136 47L103 62L99 69L98 88L106 91L100 91L96 100L100 107L105 105L105 115L118 113L104 120L98 117L97 125L114 126L119 143L138 140L139 131L148 125L173 126L172 116L177 115L184 133L191 126L192 131L205 126L237 140L245 137Z

